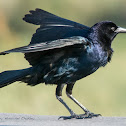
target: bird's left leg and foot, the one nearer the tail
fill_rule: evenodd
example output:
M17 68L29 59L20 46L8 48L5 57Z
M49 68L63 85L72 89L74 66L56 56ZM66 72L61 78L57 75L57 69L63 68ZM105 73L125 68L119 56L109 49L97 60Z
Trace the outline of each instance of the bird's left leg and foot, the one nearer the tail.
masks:
M75 113L69 108L69 106L62 99L62 89L63 89L63 87L64 87L64 84L60 84L60 85L57 86L57 88L56 88L56 98L66 107L66 109L69 111L71 116L74 116ZM59 119L64 118L64 117L65 116L59 117ZM66 119L70 119L70 118L71 118L70 116L66 117Z

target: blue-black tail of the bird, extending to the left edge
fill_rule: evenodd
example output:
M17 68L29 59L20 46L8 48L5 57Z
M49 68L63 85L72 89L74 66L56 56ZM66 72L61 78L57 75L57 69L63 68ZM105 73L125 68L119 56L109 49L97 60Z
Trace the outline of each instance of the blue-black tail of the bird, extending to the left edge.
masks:
M0 73L0 88L7 86L15 81L21 81L22 78L30 75L33 72L33 67L21 69L21 70L10 70Z

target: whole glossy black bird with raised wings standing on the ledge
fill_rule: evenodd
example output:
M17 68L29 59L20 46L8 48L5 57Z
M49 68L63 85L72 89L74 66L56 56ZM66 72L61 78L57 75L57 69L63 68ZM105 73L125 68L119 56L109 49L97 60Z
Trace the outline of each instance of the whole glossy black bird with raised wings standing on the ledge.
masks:
M0 55L20 52L32 66L21 70L0 73L0 88L15 81L35 86L40 83L56 84L56 98L66 107L71 116L63 119L83 119L97 117L73 96L75 82L110 62L113 50L112 40L126 29L111 21L101 21L92 27L58 17L41 9L31 10L24 21L40 25L28 46L1 52ZM67 96L84 110L75 114L62 99L62 89L66 87Z

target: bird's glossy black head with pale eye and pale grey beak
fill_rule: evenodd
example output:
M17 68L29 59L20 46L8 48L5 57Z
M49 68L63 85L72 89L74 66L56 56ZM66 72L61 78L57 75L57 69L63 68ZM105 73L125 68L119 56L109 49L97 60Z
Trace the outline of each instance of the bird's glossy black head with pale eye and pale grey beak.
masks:
M121 28L111 21L102 21L91 27L95 33L95 39L105 45L111 45L112 40L118 33L126 33L125 28Z

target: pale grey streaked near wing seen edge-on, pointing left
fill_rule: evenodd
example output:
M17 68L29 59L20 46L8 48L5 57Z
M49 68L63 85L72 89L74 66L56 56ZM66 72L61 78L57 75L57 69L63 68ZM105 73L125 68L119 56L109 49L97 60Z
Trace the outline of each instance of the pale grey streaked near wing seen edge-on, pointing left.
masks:
M39 51L45 51L45 50L52 50L52 49L58 49L63 48L67 46L72 46L76 44L87 44L88 39L81 37L81 36L74 36L66 39L58 39L54 41L49 41L45 43L38 43L38 44L31 44L24 47L19 47L11 50L7 50L4 52L1 52L0 55L5 55L9 53L14 52L21 52L21 53L30 53L30 52L39 52Z

